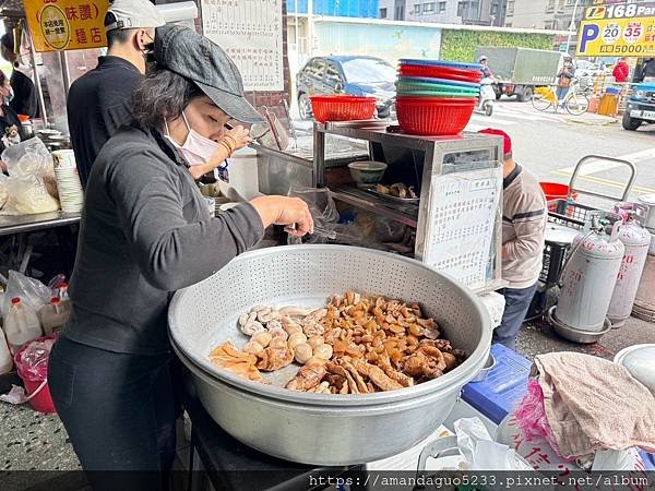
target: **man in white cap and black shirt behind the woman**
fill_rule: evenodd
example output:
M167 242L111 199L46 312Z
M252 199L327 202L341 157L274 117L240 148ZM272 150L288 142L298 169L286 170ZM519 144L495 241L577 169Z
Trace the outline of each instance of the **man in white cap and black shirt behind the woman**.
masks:
M115 0L105 15L107 56L70 87L68 122L82 185L103 145L131 121L132 93L145 75L164 17L148 0Z

